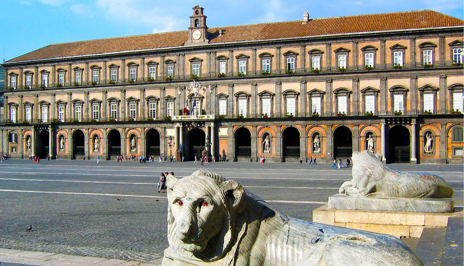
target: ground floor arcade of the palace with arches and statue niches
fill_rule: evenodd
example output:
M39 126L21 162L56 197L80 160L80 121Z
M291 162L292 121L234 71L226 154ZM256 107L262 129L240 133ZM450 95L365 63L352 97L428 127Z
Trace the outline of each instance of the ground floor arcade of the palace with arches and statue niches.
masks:
M30 123L0 126L1 152L62 159L114 159L118 155L168 160L210 157L234 161L318 162L369 149L387 163L463 162L463 121L456 116L215 119L127 123Z

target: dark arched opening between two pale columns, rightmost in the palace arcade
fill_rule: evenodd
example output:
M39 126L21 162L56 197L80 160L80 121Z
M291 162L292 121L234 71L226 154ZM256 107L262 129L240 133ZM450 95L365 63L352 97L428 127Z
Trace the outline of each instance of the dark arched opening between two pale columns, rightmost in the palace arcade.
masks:
M394 126L388 132L388 162L406 162L411 160L410 134L405 126Z

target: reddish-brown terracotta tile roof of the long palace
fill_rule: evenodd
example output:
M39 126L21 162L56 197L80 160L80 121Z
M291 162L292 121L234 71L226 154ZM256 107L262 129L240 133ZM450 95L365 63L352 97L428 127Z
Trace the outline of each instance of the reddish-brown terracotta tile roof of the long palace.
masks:
M210 43L217 44L236 41L463 25L464 21L462 19L432 10L418 10L311 19L307 24L302 24L302 20L296 20L215 27L209 28L208 32L212 35ZM219 29L225 30L222 36L219 36ZM163 32L53 44L6 62L181 46L187 40L187 34L187 31Z

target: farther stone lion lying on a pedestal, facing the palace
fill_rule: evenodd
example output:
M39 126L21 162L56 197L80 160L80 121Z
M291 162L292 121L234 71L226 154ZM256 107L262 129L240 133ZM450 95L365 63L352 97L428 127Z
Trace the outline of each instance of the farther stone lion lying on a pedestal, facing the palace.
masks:
M368 150L353 153L352 176L338 193L409 199L453 196L453 189L438 175L390 169Z

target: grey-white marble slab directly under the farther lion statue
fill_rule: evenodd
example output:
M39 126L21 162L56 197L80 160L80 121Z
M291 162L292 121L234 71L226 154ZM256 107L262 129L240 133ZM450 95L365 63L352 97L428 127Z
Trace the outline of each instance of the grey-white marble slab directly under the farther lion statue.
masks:
M453 198L445 199L396 199L378 197L353 197L336 194L329 197L329 209L372 210L417 213L453 212Z

